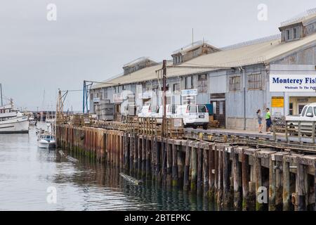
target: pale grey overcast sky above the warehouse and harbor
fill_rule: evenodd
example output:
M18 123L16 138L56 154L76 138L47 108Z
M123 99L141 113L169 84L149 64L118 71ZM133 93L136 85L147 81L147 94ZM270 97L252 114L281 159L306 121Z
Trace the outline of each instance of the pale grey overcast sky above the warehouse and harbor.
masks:
M48 4L57 20L48 21ZM258 5L268 20L258 20ZM216 47L279 33L315 0L150 1L1 0L0 82L4 96L29 110L54 105L58 88L82 89L83 80L102 81L141 56L161 61L194 39ZM72 93L66 110L81 110ZM51 107L51 106L50 106Z

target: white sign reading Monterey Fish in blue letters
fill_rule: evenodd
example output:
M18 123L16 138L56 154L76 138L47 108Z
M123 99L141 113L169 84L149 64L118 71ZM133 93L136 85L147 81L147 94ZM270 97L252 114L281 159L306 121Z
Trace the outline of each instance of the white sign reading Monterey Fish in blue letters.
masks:
M272 92L315 92L316 75L270 75Z

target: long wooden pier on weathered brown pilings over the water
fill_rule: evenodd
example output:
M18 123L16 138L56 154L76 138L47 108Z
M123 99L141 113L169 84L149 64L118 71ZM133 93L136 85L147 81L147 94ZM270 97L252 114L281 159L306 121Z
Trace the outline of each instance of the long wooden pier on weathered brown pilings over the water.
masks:
M225 136L216 141L203 134L162 138L110 123L58 124L56 141L59 148L136 179L202 196L213 210L316 210L316 155L286 146L267 148L260 140Z

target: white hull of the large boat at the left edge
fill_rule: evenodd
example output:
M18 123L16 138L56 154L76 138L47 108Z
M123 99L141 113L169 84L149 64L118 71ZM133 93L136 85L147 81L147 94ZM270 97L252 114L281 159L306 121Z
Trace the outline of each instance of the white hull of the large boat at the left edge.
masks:
M27 117L15 117L0 121L0 134L27 134L29 133L29 120Z

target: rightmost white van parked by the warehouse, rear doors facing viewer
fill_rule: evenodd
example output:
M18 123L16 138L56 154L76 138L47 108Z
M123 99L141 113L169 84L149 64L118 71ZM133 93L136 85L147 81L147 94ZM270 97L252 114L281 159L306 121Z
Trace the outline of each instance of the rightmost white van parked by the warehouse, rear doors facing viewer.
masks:
M179 105L176 109L176 118L182 118L185 127L202 126L203 129L207 129L209 124L209 112L205 105Z

